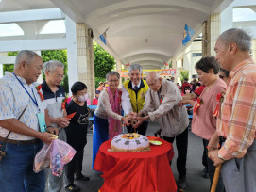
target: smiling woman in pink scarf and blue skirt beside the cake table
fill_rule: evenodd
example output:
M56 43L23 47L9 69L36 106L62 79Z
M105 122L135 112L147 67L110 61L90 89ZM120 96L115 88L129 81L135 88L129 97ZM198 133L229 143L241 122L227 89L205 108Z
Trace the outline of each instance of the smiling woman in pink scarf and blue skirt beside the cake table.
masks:
M128 119L121 116L122 91L119 85L118 72L109 72L106 75L108 88L104 89L98 98L98 105L94 112L93 138L93 168L99 146L106 140L122 134L122 123L129 125Z

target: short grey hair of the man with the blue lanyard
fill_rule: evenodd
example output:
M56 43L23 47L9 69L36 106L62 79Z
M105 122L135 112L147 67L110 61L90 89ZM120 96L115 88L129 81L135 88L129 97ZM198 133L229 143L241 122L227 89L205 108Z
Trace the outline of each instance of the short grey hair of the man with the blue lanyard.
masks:
M34 57L39 56L37 53L30 50L22 50L18 53L15 59L14 67L20 65L22 62L26 62L26 64L30 64ZM39 56L40 57L40 56Z

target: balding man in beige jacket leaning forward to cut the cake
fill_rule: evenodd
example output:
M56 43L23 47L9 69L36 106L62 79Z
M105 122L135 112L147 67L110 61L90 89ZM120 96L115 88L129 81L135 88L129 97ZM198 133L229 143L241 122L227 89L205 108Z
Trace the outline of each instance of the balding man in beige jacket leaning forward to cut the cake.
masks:
M162 79L157 72L149 72L146 77L149 86L145 98L145 106L137 118L137 127L145 120L158 120L162 129L163 139L173 143L176 138L178 150L177 169L179 172L178 188L186 189L186 160L188 147L188 115L186 108L179 107L181 95L177 86Z

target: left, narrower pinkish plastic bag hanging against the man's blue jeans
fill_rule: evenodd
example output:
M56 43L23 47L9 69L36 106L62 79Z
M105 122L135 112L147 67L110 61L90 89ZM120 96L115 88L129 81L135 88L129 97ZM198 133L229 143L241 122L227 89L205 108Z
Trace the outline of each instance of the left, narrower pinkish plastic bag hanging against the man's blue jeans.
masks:
M34 172L40 172L41 170L50 167L51 149L51 145L48 146L44 144L41 151L36 154L36 157L34 159Z

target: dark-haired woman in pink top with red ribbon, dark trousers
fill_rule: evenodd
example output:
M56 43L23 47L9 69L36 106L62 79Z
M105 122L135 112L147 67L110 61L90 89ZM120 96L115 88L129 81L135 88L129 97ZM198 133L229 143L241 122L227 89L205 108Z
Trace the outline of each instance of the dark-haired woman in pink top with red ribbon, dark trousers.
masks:
M213 56L201 58L196 63L196 72L206 88L204 88L194 106L192 132L203 138L204 148L207 150L209 140L216 131L216 118L213 116L218 103L216 96L225 91L227 86L218 76L219 65ZM208 150L212 150L212 146L209 146ZM213 166L213 161L209 158L207 159L207 165L212 185L215 167ZM224 184L222 183L222 179L220 179L216 191L222 192L224 190Z

